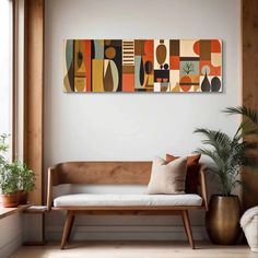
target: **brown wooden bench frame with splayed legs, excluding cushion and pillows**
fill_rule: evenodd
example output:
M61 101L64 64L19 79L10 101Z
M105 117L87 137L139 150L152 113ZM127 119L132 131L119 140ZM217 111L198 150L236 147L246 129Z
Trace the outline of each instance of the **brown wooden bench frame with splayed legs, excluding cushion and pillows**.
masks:
M207 203L207 185L206 168L200 166L199 171L199 192L198 198L201 202L198 206L155 206L149 204L54 204L54 187L62 184L85 184L85 185L148 185L151 175L152 162L67 162L60 163L48 169L48 190L47 190L47 209L67 211L66 223L61 239L61 249L64 248L69 241L74 216L78 214L171 214L181 215L188 242L192 249L195 243L189 221L188 211L204 209L208 210ZM87 195L91 196L91 195ZM156 198L163 195L151 196L141 195L144 198ZM164 195L168 198L177 198L177 195ZM183 195L180 195L183 196ZM191 195L184 195L188 198ZM74 196L75 197L75 196ZM133 196L134 197L134 196ZM122 197L120 197L122 199ZM56 200L55 200L56 201Z

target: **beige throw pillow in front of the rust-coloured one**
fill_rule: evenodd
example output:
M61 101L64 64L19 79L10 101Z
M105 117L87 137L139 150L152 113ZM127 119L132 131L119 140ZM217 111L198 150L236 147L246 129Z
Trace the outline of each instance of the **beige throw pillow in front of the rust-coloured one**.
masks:
M151 179L146 194L185 194L187 157L167 163L156 157L152 163Z

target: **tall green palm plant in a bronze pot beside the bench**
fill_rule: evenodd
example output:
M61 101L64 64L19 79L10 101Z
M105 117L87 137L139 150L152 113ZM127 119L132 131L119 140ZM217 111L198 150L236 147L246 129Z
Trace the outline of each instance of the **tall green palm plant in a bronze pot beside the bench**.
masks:
M224 112L231 114L232 110L226 108ZM202 143L210 146L199 148L196 152L213 161L210 171L220 181L219 194L211 197L206 216L208 234L214 244L234 244L239 233L241 207L233 190L242 185L238 179L241 167L257 164L257 159L249 153L255 144L245 141L245 137L257 134L257 127L250 117L238 126L233 137L206 128L198 128L195 132L201 133L204 137Z

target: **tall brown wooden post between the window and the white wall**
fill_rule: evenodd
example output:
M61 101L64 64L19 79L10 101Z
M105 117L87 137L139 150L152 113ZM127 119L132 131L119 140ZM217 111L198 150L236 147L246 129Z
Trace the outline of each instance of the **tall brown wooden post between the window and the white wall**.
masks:
M36 174L36 188L30 194L35 204L43 202L43 68L44 0L26 0L24 161Z

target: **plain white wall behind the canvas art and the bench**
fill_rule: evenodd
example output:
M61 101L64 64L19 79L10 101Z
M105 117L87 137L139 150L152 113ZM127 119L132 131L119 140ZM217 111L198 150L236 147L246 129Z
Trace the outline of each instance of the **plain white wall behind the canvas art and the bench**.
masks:
M64 94L66 38L221 38L224 91ZM184 155L200 145L199 136L192 134L196 127L233 133L237 126L236 118L227 118L221 110L241 104L239 0L47 0L45 44L45 171L62 161L152 160L166 152ZM93 228L89 238L108 238L108 231L118 228L116 237L128 237L124 232L131 231L144 238L150 236L144 228L146 232L166 228L167 234L156 233L154 237L173 238L171 231L177 220L153 220L87 218L81 220L85 227L79 227L78 237L80 232L83 235L84 230ZM124 226L129 224L138 228ZM196 213L192 224L194 234L204 237L203 215ZM61 225L59 214L48 216L47 236L50 233L58 236ZM139 226L145 227L137 234L141 231Z

